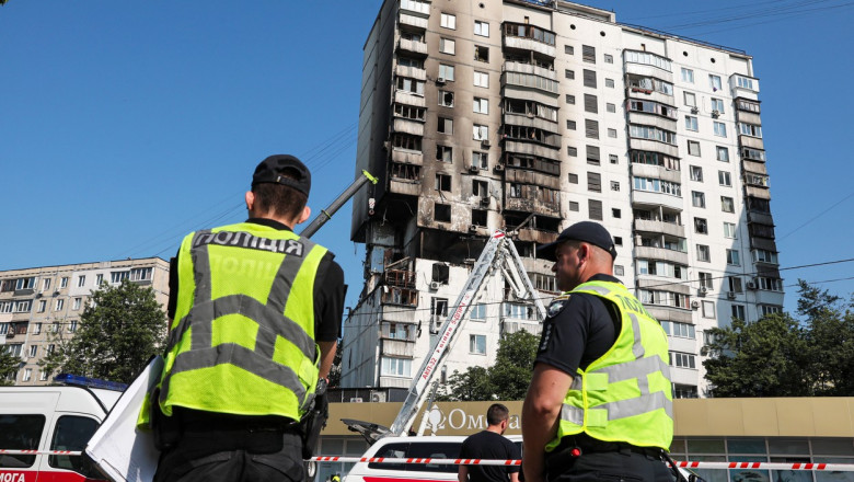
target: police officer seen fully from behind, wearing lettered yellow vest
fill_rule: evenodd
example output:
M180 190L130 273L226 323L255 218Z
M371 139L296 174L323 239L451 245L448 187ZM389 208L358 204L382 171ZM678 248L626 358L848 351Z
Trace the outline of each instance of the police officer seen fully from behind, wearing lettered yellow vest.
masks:
M298 421L335 356L344 273L293 233L311 174L292 156L255 169L250 218L187 234L170 277L157 395L155 482L302 481Z

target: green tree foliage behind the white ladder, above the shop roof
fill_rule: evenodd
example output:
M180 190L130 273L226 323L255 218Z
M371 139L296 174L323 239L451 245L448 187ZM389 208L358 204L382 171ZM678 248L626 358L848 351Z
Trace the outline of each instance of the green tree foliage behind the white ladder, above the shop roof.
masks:
M495 365L469 367L448 377L438 397L445 401L522 400L531 382L539 340L527 331L508 334L498 343Z

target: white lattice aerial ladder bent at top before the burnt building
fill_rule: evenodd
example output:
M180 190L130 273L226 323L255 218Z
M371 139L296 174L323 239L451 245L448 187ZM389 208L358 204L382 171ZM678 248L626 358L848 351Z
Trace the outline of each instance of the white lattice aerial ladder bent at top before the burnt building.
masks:
M418 412L430 394L430 382L436 374L441 371L441 367L445 365L458 333L468 320L466 315L472 302L477 300L477 295L484 287L486 279L497 274L504 277L516 298L530 300L534 305L540 322L545 320L545 307L522 266L522 260L512 240L506 232L495 231L489 241L487 241L481 256L474 263L472 273L469 275L469 279L465 282L459 298L457 298L457 303L453 305L453 311L439 329L439 335L434 342L429 355L424 358L420 369L413 378L406 400L403 402L401 411L397 413L391 427L354 420L343 420L350 429L361 433L369 443L377 441L382 437L409 434Z

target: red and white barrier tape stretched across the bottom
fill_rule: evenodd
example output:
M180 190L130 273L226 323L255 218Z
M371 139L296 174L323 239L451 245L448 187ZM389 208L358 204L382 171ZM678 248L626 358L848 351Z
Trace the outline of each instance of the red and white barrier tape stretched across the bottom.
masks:
M48 455L48 456L79 456L81 451L74 450L5 450L0 449L0 455ZM312 457L315 462L343 462L343 463L422 463L442 466L521 466L521 460L487 460L487 459L394 459L389 457ZM781 462L676 462L677 467L684 469L765 469L765 470L818 470L824 472L854 472L854 463L781 463Z

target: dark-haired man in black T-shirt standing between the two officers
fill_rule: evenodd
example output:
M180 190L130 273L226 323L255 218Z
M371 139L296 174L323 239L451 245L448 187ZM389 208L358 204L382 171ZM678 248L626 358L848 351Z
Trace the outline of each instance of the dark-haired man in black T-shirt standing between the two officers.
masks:
M504 437L510 411L500 403L493 403L486 411L487 427L463 441L461 459L519 460L519 447ZM519 466L460 466L459 482L518 482Z

